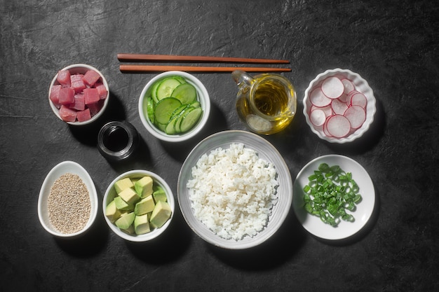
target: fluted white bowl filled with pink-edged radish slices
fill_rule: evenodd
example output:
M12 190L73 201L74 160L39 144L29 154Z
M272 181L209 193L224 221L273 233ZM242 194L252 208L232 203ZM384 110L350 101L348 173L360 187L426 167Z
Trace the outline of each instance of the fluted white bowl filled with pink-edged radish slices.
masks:
M304 116L320 139L343 144L369 129L377 111L374 92L360 75L347 69L330 69L309 83Z

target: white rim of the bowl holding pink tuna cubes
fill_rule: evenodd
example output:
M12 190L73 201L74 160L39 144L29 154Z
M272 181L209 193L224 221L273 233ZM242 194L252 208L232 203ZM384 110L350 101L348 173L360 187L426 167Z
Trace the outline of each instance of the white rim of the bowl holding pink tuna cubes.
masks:
M95 116L90 118L90 120L85 120L83 122L65 122L64 120L62 120L62 118L60 116L60 110L50 100L50 91L52 90L53 85L55 85L55 83L57 82L56 78L58 77L58 72L62 71L62 70L69 70L69 69L74 69L74 68L84 68L84 69L96 71L97 74L99 74L100 77L102 78L102 83L104 83L105 88L107 88L107 97L104 99L104 104L102 105L102 109L100 109L100 111L98 113L96 113ZM49 105L50 105L50 108L52 109L53 113L55 113L55 116L57 116L60 120L62 120L62 122L67 123L69 125L74 125L74 126L89 125L90 123L93 123L95 120L97 120L97 118L102 116L102 113L104 112L104 109L107 108L107 104L108 104L108 101L109 101L109 85L107 83L107 78L105 78L104 74L102 74L101 71L99 71L98 69L96 69L93 66L90 66L88 64L81 64L81 63L71 64L71 65L69 65L67 67L64 67L64 68L60 69L59 71L52 78L52 81L50 81L49 90L48 90Z

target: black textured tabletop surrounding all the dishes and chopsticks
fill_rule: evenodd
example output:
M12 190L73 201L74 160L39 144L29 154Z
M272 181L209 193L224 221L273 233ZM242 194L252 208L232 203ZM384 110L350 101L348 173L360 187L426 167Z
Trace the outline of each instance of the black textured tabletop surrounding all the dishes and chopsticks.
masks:
M6 1L0 0L1 291L438 291L438 1ZM100 195L121 172L142 168L176 192L186 155L219 130L243 130L229 74L194 74L212 99L210 127L175 147L142 128L137 99L154 74L121 74L117 53L216 55L291 61L283 74L304 90L326 69L351 69L377 98L367 135L327 144L299 106L292 125L266 137L292 177L320 155L339 153L369 172L377 208L343 242L309 235L291 210L270 242L216 249L194 235L177 208L170 229L147 244L124 242L104 223L65 242L38 221L39 188L63 160L79 162ZM48 106L50 80L86 63L109 81L97 125L69 127ZM112 165L95 147L107 120L139 130L135 160ZM176 195L176 193L175 193Z

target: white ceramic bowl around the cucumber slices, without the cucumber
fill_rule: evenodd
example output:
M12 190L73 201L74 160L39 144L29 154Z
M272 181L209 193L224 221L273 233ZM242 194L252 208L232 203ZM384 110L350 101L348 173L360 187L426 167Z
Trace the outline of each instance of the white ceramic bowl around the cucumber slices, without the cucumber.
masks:
M196 92L198 95L198 101L201 104L201 109L203 109L203 116L201 116L200 120L198 120L198 124L195 125L189 132L186 132L184 134L166 134L165 132L159 130L153 123L151 123L151 120L147 118L144 114L144 103L146 102L146 98L151 96L151 87L156 81L160 81L163 78L166 78L168 76L181 76L188 83L191 83L191 85L194 85L196 88ZM201 81L198 80L195 76L183 72L183 71L167 71L163 72L161 74L158 74L154 78L152 78L147 85L144 86L142 93L140 93L139 98L139 115L140 120L142 120L142 124L147 129L149 133L151 133L154 137L161 139L162 141L168 141L168 142L180 142L180 141L186 141L188 139L191 139L192 137L196 136L205 124L208 121L209 115L210 115L210 97L208 94L208 90L205 89L205 86Z

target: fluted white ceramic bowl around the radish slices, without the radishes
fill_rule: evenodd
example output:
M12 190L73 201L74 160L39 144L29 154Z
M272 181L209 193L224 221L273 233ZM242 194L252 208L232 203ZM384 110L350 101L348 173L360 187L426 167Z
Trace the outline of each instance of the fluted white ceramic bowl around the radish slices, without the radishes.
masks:
M327 77L331 76L339 76L341 78L347 78L350 81L352 81L353 85L355 85L356 90L359 92L362 92L363 95L367 98L367 107L366 107L366 120L363 123L363 125L358 128L355 132L352 134L349 134L349 136L343 137L343 138L335 138L335 137L328 137L323 132L323 127L316 127L311 123L311 120L309 119L309 111L311 109L311 102L309 101L309 95L311 91L320 86L323 80ZM370 125L372 124L374 120L374 114L377 111L376 108L376 100L374 97L374 92L372 88L370 88L367 81L365 81L360 75L347 70L347 69L331 69L327 70L323 73L318 74L316 78L309 83L308 88L305 90L305 96L303 100L304 104L304 116L306 118L306 123L308 123L309 127L311 128L311 131L315 133L320 139L323 139L325 141L331 142L331 143L339 143L343 144L346 142L354 141L355 139L358 139L359 137L363 136L363 134L369 129Z

